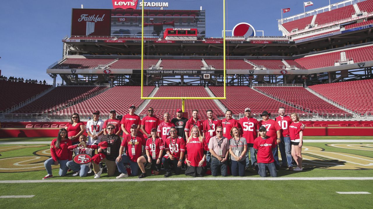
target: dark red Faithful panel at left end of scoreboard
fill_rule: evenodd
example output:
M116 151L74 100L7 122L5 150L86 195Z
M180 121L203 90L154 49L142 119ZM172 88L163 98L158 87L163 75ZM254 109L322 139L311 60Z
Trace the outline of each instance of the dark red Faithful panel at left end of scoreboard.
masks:
M71 36L110 36L109 9L72 9Z

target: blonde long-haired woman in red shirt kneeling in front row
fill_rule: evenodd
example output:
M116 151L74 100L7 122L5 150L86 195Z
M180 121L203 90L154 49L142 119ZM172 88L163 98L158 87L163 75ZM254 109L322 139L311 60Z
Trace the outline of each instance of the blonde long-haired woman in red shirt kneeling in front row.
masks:
M187 152L185 163L188 165L185 175L202 177L205 174L208 147L197 126L193 126L191 135L186 140L185 148Z

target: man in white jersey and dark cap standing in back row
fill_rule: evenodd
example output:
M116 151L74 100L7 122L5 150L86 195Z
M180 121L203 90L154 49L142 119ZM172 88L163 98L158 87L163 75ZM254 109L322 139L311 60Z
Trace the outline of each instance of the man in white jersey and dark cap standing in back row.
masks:
M104 121L99 119L99 117L100 111L94 111L93 120L87 121L87 126L85 126L85 130L88 134L88 145L98 144L98 142L100 142L101 136L104 133Z

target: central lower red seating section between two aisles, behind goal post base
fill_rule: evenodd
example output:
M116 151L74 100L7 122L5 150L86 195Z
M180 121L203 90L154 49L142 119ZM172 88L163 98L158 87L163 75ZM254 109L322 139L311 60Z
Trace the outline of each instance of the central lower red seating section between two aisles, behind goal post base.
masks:
M202 86L161 86L155 97L210 97ZM182 107L182 102L178 100L152 99L141 114L147 114L148 107L154 108L154 114L163 118L165 112L169 112L171 118L175 117L176 109ZM206 110L211 109L214 115L224 115L222 110L213 100L185 100L186 112L191 115L193 109L199 110L201 119L206 119Z

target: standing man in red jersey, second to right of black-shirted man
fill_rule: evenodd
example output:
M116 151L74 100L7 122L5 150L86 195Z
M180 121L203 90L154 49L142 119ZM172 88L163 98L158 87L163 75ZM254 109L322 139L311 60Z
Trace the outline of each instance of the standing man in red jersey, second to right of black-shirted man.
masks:
M203 125L203 138L206 141L207 146L209 146L210 138L213 136L216 136L216 127L222 126L220 123L220 120L214 119L212 110L207 110L207 120L204 120L202 122ZM207 167L210 167L211 165L211 153L210 151L207 151L206 154L206 161L207 161Z

